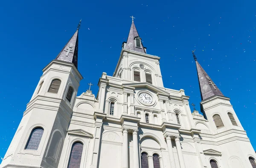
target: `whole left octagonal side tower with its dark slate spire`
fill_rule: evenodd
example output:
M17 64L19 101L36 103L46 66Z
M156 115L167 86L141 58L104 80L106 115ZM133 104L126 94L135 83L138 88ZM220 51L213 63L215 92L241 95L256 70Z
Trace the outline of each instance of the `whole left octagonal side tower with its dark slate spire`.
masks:
M56 59L44 67L1 168L58 167L82 79L77 70L79 26Z

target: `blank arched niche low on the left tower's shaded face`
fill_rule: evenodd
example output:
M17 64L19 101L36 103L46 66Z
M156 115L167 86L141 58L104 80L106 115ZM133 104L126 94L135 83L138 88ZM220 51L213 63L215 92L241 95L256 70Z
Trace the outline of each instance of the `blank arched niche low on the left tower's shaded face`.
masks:
M61 147L61 142L62 142L62 136L61 133L56 131L51 140L51 144L49 146L49 151L48 151L48 156L51 157L52 159L56 160L59 148Z

